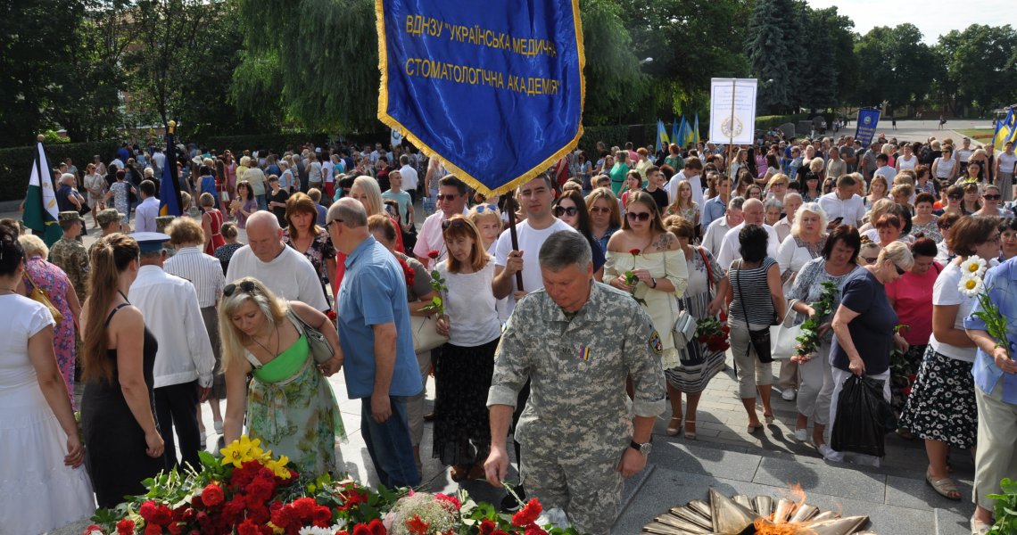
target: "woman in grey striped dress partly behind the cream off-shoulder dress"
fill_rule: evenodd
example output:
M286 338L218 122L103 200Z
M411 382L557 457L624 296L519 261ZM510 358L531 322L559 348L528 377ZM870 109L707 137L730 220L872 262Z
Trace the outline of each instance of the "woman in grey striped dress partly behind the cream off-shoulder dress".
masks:
M706 309L712 294L717 289L717 283L724 277L724 270L710 251L692 245L696 227L691 221L678 216L668 216L664 220L664 227L678 238L685 265L689 268L689 285L685 287L684 296L678 298L679 308L689 310L697 322L702 323L709 319L716 321ZM727 338L726 335L723 338ZM699 407L700 397L710 379L724 367L726 349L726 342L707 343L697 337L678 350L678 365L664 370L668 396L671 400L668 435L678 434L678 429L681 428L681 395L684 394L686 401L684 436L691 440L696 439L696 409Z

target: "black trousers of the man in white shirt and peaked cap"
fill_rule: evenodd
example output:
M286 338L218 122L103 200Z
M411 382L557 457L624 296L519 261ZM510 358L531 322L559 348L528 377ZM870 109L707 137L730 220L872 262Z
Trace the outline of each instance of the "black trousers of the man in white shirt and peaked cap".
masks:
M180 440L180 463L190 463L195 469L200 466L197 453L204 444L197 430L197 379L156 389L156 417L166 444L167 470L178 465L174 431Z

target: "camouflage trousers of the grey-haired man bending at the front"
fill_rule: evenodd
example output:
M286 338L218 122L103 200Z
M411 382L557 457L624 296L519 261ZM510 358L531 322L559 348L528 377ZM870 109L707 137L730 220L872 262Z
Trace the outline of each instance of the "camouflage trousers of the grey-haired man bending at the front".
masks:
M559 444L567 448L566 444ZM621 460L605 463L602 459L562 462L557 456L535 452L526 445L522 452L523 486L526 493L540 499L544 511L560 508L580 533L608 535L621 504L623 479L617 470Z

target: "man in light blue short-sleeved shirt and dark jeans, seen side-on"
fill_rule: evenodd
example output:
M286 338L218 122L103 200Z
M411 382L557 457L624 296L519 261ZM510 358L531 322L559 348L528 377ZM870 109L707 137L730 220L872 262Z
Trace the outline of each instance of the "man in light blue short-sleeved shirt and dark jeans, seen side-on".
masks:
M423 384L413 353L403 269L367 230L360 201L336 201L325 227L336 248L347 255L337 297L338 326L347 393L362 403L360 432L383 485L416 486L420 472L406 401L420 394Z

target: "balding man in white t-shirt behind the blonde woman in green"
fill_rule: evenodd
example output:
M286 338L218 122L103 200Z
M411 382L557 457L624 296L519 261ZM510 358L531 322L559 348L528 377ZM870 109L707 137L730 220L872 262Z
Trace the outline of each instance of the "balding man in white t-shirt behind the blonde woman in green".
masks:
M314 265L283 242L283 229L275 214L259 211L247 218L247 243L233 254L227 282L253 277L280 298L300 301L322 312L328 310Z

